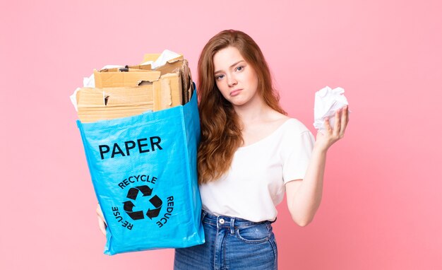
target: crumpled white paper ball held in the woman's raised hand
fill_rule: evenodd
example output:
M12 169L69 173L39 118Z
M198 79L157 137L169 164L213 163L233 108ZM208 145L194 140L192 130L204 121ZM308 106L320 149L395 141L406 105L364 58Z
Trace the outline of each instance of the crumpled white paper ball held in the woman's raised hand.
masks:
M340 108L348 105L347 98L344 95L344 88L335 88L332 89L328 86L318 90L315 93L315 107L314 107L314 115L315 122L313 122L313 126L324 133L325 131L325 118L328 117L330 126L334 127L335 124L335 113ZM350 115L350 110L348 110Z

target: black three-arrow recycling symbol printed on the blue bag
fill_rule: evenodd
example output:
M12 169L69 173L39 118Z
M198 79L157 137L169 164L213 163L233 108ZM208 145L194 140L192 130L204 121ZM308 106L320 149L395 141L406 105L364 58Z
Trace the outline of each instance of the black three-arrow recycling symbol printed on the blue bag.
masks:
M137 221L138 219L144 218L144 212L143 210L140 211L133 211L133 208L135 207L135 204L133 204L133 201L136 201L138 196L138 193L143 194L141 196L142 198L145 196L150 196L153 192L153 189L151 189L148 186L138 186L138 187L131 187L129 191L127 192L126 198L131 199L130 201L124 201L123 209L126 211L126 213L134 220ZM133 201L132 201L133 200ZM141 200L138 200L141 201ZM155 208L154 209L148 209L146 212L146 216L148 216L150 219L157 217L160 214L161 206L162 206L162 200L159 196L154 195L152 198L149 199L150 204L152 204ZM138 202L137 202L138 204ZM139 207L138 207L139 208Z

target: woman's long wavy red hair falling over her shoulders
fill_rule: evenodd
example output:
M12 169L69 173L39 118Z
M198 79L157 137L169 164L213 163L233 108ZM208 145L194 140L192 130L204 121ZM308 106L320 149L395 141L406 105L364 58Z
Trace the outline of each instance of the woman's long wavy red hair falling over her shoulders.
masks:
M212 37L203 48L198 61L198 109L201 120L201 143L198 146L198 182L220 178L232 164L237 148L244 142L238 115L218 90L215 83L213 56L221 49L235 47L258 76L258 93L265 104L284 115L273 88L270 69L261 49L246 33L224 30Z

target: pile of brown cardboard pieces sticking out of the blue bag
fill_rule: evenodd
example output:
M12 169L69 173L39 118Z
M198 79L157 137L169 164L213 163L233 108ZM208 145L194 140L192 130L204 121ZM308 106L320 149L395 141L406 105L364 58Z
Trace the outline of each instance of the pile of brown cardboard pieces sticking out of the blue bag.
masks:
M157 54L149 54L157 57ZM77 93L81 122L129 117L183 105L193 90L189 66L182 57L156 70L150 64L130 66L129 71L94 71L96 88Z

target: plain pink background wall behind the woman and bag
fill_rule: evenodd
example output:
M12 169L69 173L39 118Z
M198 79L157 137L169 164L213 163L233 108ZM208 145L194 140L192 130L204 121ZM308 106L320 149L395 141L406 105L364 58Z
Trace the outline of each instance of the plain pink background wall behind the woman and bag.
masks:
M313 223L279 206L280 269L442 269L441 1L152 2L1 1L0 269L172 269L173 250L102 254L68 96L94 68L165 48L197 79L229 28L258 42L314 134L316 90L345 88L353 111Z

